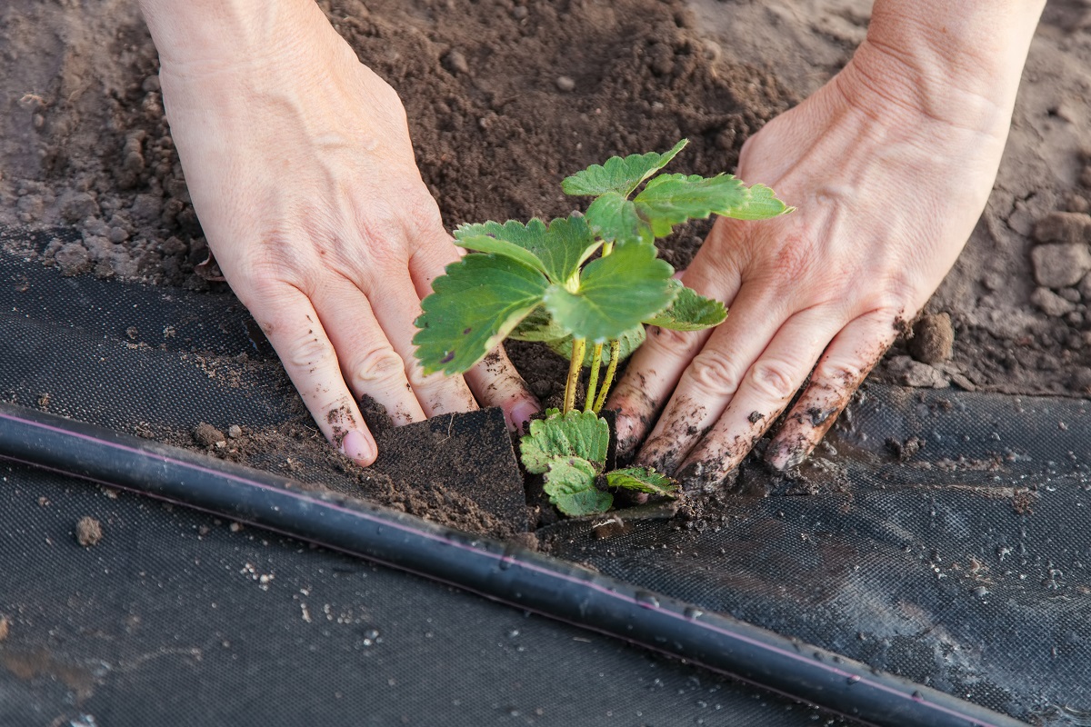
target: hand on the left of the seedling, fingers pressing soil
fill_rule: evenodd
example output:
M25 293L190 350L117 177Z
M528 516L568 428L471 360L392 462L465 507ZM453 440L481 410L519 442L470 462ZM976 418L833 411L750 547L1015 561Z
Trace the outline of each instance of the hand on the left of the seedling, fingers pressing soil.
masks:
M322 433L370 464L364 395L397 424L476 395L521 425L538 403L502 349L465 379L413 359L421 298L458 250L395 92L310 0L203 4L143 2L171 135L216 262Z

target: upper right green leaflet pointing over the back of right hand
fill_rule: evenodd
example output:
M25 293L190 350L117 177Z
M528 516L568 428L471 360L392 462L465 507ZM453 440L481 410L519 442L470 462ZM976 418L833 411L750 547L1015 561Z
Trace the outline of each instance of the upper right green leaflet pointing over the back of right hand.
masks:
M764 184L746 186L731 174L660 174L633 199L637 215L651 226L657 238L688 219L705 219L712 213L736 219L767 219L793 208L778 199Z

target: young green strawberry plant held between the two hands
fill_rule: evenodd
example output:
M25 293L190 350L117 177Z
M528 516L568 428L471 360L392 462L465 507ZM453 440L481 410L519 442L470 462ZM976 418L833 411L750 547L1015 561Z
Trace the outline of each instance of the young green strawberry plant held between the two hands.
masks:
M598 415L618 363L644 342L646 325L700 330L728 315L671 277L656 239L714 213L757 220L792 209L769 187L730 174L659 173L685 145L612 157L565 179L566 194L595 197L585 215L460 226L455 239L469 254L447 266L421 303L413 343L425 373L464 373L505 338L541 341L570 360L563 408L531 422L520 444L524 465L544 475L550 501L565 514L607 511L610 488L678 492L648 468L603 472L610 434ZM590 372L580 411L584 366Z

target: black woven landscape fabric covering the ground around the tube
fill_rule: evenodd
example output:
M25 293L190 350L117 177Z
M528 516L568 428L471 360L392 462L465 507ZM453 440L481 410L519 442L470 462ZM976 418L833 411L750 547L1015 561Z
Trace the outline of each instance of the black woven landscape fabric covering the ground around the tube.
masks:
M230 296L62 278L11 256L0 397L165 441L201 422L305 414ZM710 614L1018 719L1080 724L1086 421L1082 400L871 386L802 477L745 468L700 518L622 513L607 537L586 521L538 536ZM290 457L247 463L343 494L360 484ZM2 475L0 724L834 719L299 541L19 464ZM85 516L103 538L81 546Z

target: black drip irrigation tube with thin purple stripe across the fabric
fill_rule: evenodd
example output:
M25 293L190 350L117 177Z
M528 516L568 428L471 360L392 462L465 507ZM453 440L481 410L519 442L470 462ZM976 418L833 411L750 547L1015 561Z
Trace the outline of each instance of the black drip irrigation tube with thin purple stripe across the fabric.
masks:
M0 403L0 458L169 500L455 585L682 658L855 720L1021 725L1008 716L521 547L101 427Z

